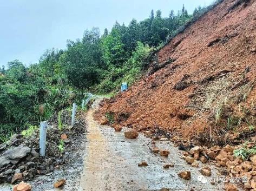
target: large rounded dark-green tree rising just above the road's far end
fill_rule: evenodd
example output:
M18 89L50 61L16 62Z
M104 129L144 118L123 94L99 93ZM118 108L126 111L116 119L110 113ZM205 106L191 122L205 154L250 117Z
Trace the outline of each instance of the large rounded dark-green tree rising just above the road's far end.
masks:
M101 79L104 68L100 31L86 30L82 42L70 42L68 50L60 58L61 67L69 82L80 89L89 88Z

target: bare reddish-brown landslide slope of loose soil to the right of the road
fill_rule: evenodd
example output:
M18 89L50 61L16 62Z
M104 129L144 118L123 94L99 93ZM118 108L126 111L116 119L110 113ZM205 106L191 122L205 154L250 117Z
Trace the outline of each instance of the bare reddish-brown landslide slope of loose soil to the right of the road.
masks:
M256 1L225 0L175 36L142 80L95 115L113 113L113 126L160 128L204 144L239 143L254 136L255 79Z

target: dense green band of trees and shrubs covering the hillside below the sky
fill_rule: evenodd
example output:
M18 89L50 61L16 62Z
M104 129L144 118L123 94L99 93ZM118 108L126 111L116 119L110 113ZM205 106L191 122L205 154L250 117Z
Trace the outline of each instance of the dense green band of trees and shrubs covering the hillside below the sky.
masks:
M201 8L194 11L200 14ZM103 35L97 28L84 31L82 39L68 40L65 50L47 50L39 63L29 67L18 60L0 68L0 141L12 133L47 120L54 111L80 104L83 93L109 93L140 77L147 58L190 21L182 8L177 15L152 10L141 22L115 23Z

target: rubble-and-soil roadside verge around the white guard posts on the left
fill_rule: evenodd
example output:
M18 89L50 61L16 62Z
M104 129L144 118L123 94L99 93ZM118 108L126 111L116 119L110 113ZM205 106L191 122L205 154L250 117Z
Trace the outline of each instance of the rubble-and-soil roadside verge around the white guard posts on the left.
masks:
M9 142L1 144L0 183L27 181L67 163L69 158L66 155L74 149L73 142L86 131L83 115L82 111L76 114L73 127L70 126L71 117L67 110L61 111L61 120L58 120L58 113L50 118L45 157L39 155L39 129L28 136L14 135Z

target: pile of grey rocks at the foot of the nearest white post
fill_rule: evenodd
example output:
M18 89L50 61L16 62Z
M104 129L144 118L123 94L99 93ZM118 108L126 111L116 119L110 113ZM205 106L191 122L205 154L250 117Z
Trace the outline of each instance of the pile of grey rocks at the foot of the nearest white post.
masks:
M34 148L24 145L13 147L0 157L0 183L19 183L54 170L58 162L40 157Z

